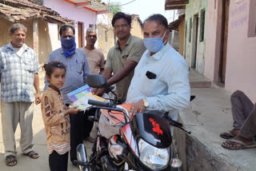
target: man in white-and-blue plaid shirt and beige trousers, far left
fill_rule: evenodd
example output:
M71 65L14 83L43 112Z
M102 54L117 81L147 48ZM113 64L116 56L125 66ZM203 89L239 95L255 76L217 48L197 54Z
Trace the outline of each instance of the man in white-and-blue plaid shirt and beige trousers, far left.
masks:
M35 104L41 102L38 58L26 46L26 26L16 23L10 26L10 43L0 49L0 82L2 139L5 146L6 165L17 164L14 133L19 123L22 153L36 159L33 146L34 89Z

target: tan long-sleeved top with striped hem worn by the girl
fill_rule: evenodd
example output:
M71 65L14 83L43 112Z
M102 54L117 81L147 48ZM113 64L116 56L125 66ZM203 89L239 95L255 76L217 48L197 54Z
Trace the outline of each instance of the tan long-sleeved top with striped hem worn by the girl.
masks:
M70 150L70 117L58 89L50 86L42 95L42 119L45 123L48 153L64 154Z

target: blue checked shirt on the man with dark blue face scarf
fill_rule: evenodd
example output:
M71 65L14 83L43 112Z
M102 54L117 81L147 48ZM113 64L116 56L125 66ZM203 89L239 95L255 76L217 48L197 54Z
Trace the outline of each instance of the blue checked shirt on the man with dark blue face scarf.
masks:
M67 93L82 87L82 85L86 85L86 77L90 74L86 54L83 50L76 49L72 56L66 58L62 48L59 48L51 52L47 59L48 63L53 61L62 62L66 66L66 79L60 91L63 94L65 103L70 104L71 101L70 98L67 97ZM44 90L46 90L49 85L46 78L45 82Z

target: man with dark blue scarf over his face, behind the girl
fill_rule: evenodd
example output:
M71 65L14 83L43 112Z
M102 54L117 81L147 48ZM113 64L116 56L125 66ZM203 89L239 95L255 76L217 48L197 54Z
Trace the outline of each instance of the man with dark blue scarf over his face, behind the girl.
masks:
M59 30L62 47L50 53L47 62L58 61L66 66L66 80L60 89L66 105L70 105L67 93L86 84L86 77L90 74L86 54L76 49L74 27L64 25ZM49 82L45 79L47 89ZM77 159L76 147L83 141L83 111L70 115L70 161L74 164ZM56 149L55 149L56 150Z

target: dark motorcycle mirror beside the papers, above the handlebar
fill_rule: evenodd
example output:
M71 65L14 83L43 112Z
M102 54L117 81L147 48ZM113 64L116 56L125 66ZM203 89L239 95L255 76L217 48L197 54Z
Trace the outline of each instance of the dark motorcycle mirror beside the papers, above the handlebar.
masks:
M107 83L102 75L90 74L86 78L86 84L92 88L104 88Z

